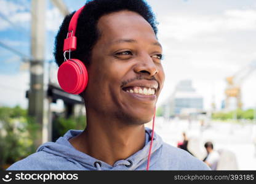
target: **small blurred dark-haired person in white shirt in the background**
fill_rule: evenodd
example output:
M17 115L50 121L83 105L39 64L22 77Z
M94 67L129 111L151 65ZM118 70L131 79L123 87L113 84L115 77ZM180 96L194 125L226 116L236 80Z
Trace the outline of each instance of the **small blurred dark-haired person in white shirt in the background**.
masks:
M207 151L207 156L206 158L204 158L204 162L210 167L210 169L217 170L217 164L220 155L217 151L214 150L214 145L212 144L212 142L206 142L206 144L204 144L204 147Z

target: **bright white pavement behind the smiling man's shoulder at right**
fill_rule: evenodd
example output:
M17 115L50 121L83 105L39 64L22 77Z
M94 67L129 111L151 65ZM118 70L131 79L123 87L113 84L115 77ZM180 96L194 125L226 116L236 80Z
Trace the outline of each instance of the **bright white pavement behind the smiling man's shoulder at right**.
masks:
M252 125L238 125L231 123L214 122L204 131L201 131L199 121L193 121L189 127L187 120L172 120L164 122L156 118L155 131L164 142L177 147L182 140L182 132L193 139L193 150L197 151L199 159L204 158L206 151L204 143L212 141L216 150L230 150L236 156L238 170L256 170L255 148L252 144Z

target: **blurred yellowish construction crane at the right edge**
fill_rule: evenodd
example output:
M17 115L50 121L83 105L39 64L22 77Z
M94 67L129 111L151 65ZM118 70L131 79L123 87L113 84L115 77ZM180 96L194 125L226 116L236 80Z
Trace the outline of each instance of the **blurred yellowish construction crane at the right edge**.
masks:
M225 109L230 110L230 99L236 98L236 109L242 108L241 85L242 82L256 69L256 60L252 61L246 67L240 69L234 75L226 77L227 87L225 90Z

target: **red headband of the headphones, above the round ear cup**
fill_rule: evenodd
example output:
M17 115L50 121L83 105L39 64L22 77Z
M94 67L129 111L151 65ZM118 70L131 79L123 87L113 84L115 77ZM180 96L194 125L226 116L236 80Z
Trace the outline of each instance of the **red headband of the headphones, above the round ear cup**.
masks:
M85 6L81 7L74 13L68 26L68 34L64 40L63 52L71 52L76 50L76 26L78 25L78 17Z

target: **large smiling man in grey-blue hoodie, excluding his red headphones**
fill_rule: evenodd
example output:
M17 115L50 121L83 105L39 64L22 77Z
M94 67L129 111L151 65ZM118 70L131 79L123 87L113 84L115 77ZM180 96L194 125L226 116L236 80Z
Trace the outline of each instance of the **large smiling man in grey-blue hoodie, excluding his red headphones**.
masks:
M72 15L57 35L55 59L63 61L63 40ZM162 47L151 8L142 0L95 0L78 18L77 49L89 75L80 96L87 127L70 130L41 145L9 170L145 170L154 108L164 83ZM154 134L150 170L204 170L202 161L162 142Z

